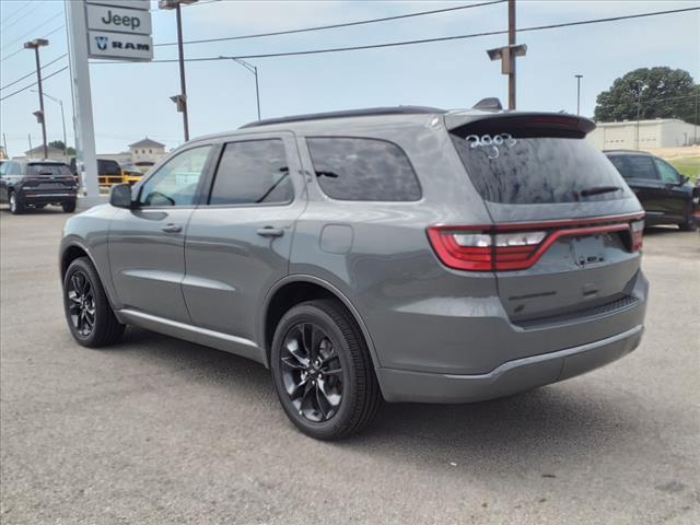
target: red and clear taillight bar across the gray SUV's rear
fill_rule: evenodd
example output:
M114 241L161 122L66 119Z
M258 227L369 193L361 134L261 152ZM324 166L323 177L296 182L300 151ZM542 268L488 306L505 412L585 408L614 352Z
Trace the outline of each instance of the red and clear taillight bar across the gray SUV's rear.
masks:
M643 215L635 214L629 219L641 217ZM430 226L428 237L445 266L469 271L527 269L537 262L557 240L565 236L628 231L631 250L641 249L644 221L595 224L611 219L557 221L556 226L552 222L495 226Z

